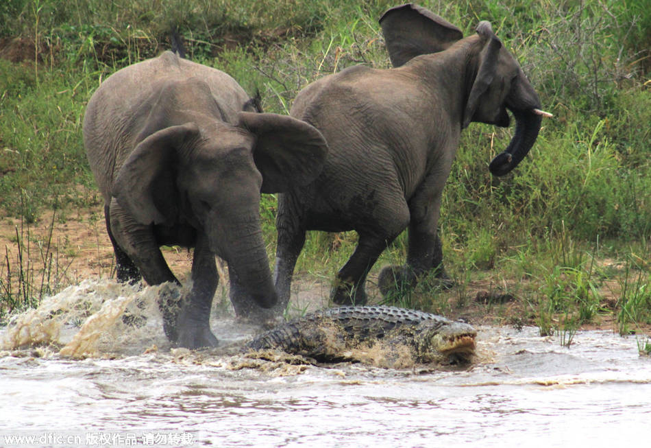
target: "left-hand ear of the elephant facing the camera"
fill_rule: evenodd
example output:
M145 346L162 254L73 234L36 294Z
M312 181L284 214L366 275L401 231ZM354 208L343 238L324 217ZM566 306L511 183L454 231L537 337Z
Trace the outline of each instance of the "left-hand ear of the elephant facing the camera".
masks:
M122 165L113 183L112 195L136 222L164 224L175 221L178 149L198 134L194 123L154 132L138 143Z

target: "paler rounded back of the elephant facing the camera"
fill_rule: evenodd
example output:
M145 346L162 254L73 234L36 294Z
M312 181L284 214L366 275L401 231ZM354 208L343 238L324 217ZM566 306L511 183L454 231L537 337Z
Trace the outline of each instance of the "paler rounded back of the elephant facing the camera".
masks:
M106 203L115 173L137 144L153 104L170 86L195 80L209 89L217 119L236 123L249 95L223 71L182 59L171 51L116 71L95 91L84 115L84 145ZM161 123L161 127L169 126Z

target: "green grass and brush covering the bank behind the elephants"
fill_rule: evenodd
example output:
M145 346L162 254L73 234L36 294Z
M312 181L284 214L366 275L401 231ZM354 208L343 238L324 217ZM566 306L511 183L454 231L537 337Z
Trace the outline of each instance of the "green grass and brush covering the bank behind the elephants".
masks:
M0 58L0 215L27 225L55 207L60 215L70 207L99 210L97 194L89 193L94 180L82 145L84 106L111 73L169 48L172 30L182 36L189 58L230 73L251 94L259 89L266 111L287 113L297 92L323 75L352 64L389 67L377 20L394 4L3 1L5 49L16 38L27 49L18 62ZM445 263L456 287L442 293L437 281L424 279L397 303L462 312L474 306L474 285L485 283L517 296L521 316L511 321L535 323L545 334L560 331L561 342L568 344L578 326L602 316L613 316L621 333L651 323L651 10L646 2L421 4L465 34L478 21L491 21L555 118L545 119L530 156L504 178L491 177L487 164L505 148L513 129L474 123L465 130L440 222ZM274 196L262 199L270 257L275 207ZM18 239L25 243L21 235ZM329 281L355 241L354 233L310 233L297 271ZM373 268L371 282L382 266L402 263L405 251L401 235ZM19 299L31 305L43 292L56 290L35 287L27 298L9 291L6 272L13 276L29 268L15 254L5 257L3 309ZM606 295L613 281L618 288L610 294L615 295L611 306ZM505 318L509 312L506 305L482 306Z

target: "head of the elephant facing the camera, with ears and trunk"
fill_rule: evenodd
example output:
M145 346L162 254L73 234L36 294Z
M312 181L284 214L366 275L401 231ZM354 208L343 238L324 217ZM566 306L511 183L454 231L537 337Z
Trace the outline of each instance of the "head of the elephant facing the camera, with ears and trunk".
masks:
M271 307L277 298L260 192L313 180L328 146L316 128L292 117L240 112L237 118L230 124L195 117L149 134L119 169L112 196L139 224L203 231L251 297Z

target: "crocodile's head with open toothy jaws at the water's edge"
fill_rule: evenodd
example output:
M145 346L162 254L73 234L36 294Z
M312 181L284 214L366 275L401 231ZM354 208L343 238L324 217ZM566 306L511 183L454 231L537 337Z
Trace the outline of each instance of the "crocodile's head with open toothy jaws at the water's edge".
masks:
M475 351L477 331L465 322L426 320L417 327L418 357L431 361L467 362Z

